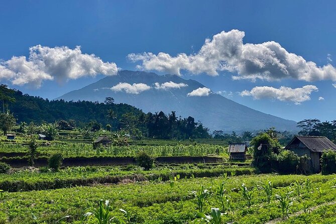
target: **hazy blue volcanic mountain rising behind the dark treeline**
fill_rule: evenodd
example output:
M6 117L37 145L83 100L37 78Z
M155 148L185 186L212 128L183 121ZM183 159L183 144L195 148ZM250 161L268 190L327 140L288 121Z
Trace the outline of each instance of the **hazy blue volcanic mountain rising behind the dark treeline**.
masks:
M185 83L180 88L157 89L155 83ZM110 88L120 82L145 83L150 89L138 94L114 91ZM255 109L211 92L208 96L187 96L189 92L204 87L195 80L185 80L177 75L157 75L151 72L120 71L116 76L108 76L81 89L66 93L57 99L90 100L103 102L105 97L114 97L116 102L123 102L151 111L176 111L178 116L195 118L211 130L244 131L275 127L277 130L297 130L296 122L264 114Z

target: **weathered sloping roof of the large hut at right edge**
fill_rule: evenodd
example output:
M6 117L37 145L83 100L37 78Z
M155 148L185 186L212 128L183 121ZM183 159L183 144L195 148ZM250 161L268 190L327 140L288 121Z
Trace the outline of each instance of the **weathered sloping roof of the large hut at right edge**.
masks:
M285 149L295 148L298 141L313 152L323 152L327 149L336 151L336 145L323 136L296 136Z

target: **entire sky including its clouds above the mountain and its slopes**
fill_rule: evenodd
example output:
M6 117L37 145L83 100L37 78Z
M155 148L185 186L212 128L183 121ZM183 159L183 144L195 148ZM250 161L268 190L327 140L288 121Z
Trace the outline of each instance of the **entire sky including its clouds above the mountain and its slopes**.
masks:
M336 119L335 1L0 2L0 82L24 93L146 70L281 118Z

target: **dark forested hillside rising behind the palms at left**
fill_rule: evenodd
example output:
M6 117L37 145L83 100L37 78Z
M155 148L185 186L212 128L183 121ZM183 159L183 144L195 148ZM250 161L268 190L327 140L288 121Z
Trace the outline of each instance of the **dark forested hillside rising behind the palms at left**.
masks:
M81 125L81 123L96 120L105 125L108 123L106 119L108 109L115 111L118 118L116 121L120 120L122 115L126 113L133 113L136 116L143 114L140 109L124 103L107 105L88 101L49 101L38 96L22 94L21 91L16 91L13 96L16 101L10 103L9 109L14 113L18 122L39 124L42 121L53 123L59 120L75 120L77 125Z

